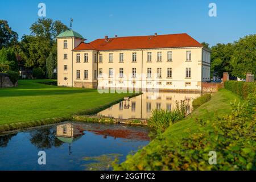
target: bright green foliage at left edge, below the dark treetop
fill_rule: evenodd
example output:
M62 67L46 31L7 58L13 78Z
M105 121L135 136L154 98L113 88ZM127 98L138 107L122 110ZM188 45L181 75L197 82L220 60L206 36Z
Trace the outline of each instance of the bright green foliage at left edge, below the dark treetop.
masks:
M16 60L14 48L3 47L0 50L0 64L2 72L8 70L18 71L18 61Z

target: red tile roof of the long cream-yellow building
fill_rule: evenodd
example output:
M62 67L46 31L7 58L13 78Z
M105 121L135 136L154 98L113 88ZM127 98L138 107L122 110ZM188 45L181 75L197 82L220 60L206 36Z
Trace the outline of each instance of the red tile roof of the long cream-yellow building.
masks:
M81 43L74 50L122 50L173 47L203 47L188 34L126 36L120 38L97 39L90 43Z

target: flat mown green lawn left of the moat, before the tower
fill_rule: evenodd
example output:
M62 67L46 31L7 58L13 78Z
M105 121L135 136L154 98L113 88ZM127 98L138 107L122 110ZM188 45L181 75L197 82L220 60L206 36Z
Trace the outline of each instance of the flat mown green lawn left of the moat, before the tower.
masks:
M38 81L47 80L19 80L17 88L0 89L0 125L68 117L129 95L100 94L97 89L65 88L39 84Z

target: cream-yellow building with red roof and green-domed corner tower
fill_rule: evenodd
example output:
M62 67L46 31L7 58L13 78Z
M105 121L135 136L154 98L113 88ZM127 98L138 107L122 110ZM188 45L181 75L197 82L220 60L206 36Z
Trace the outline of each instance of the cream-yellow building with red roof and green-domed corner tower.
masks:
M187 34L84 41L72 30L57 36L59 86L201 91L210 81L210 51Z

